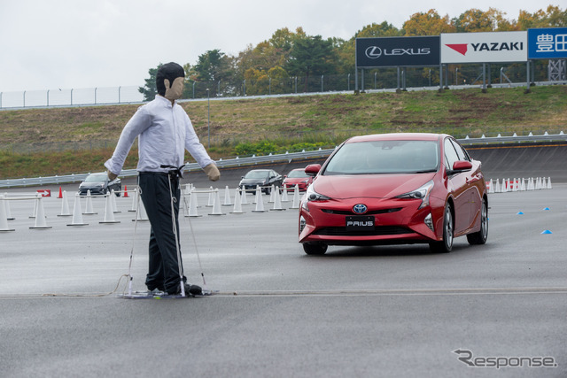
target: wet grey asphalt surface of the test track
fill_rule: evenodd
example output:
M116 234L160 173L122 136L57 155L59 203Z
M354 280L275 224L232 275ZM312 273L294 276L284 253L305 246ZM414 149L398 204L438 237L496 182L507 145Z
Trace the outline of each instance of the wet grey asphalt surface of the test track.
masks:
M202 216L181 220L185 274L202 284L203 273L219 293L187 299L118 296L130 252L134 289L148 264L149 224L132 221L132 197L116 198L117 224L99 223L105 201L94 198L84 227L66 226L61 200L44 198L48 229L30 229L32 200L11 201L0 376L566 376L567 182L539 175L553 189L491 194L488 243L457 238L449 254L400 245L307 256L291 202L269 211L264 197L267 212L245 204L244 214L207 215L200 194ZM477 366L463 362L467 351ZM543 358L551 366L537 366Z

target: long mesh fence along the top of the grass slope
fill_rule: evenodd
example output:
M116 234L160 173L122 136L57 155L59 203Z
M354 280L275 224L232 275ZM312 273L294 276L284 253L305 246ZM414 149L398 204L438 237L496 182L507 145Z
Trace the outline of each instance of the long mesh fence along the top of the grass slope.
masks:
M485 78L490 84L526 84L526 65L486 65ZM532 62L531 81L548 81L547 60ZM447 65L444 67L444 85L481 85L483 65ZM186 81L183 99L234 96L274 96L299 93L353 91L354 73L343 75L291 76L259 80ZM439 67L405 67L364 70L359 73L359 89L397 89L439 87ZM112 87L89 89L49 89L21 92L0 92L0 109L131 104L147 101L140 88Z

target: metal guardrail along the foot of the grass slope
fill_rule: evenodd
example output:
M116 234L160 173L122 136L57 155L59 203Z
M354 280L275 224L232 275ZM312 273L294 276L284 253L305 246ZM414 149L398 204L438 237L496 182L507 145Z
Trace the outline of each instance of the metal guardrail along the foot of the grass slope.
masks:
M458 141L464 145L473 144L493 144L493 143L522 143L522 142L556 142L556 141L567 141L567 135L562 132L559 134L548 134L547 132L543 135L511 135L511 136L481 136L480 138L470 138L466 136L465 138L458 139ZM267 156L252 156L246 158L229 158L229 159L219 159L215 163L219 168L229 168L235 166L256 166L259 164L267 163L280 163L283 161L288 161L291 163L293 160L300 160L306 158L326 158L335 149L327 150L310 150L301 152L285 152L283 154L267 155ZM184 166L184 172L198 171L201 167L197 163L190 163ZM138 173L136 169L125 169L120 173L121 177L133 177ZM89 174L66 174L62 176L50 176L50 177L36 177L29 179L13 179L13 180L0 180L0 188L12 188L12 187L27 187L27 186L39 186L47 184L63 184L69 182L83 181L85 177Z

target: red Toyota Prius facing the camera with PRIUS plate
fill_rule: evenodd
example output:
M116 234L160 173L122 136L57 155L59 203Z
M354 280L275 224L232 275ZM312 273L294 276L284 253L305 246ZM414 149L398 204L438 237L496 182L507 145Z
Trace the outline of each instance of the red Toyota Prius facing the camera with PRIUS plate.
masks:
M307 254L328 245L429 243L450 252L454 237L488 236L488 197L480 162L450 135L355 136L315 176L299 207Z

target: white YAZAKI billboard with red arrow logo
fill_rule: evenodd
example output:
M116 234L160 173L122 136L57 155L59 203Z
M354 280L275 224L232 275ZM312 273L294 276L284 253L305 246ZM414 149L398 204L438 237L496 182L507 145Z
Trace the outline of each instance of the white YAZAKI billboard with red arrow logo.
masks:
M441 35L441 63L525 62L527 58L525 31Z

